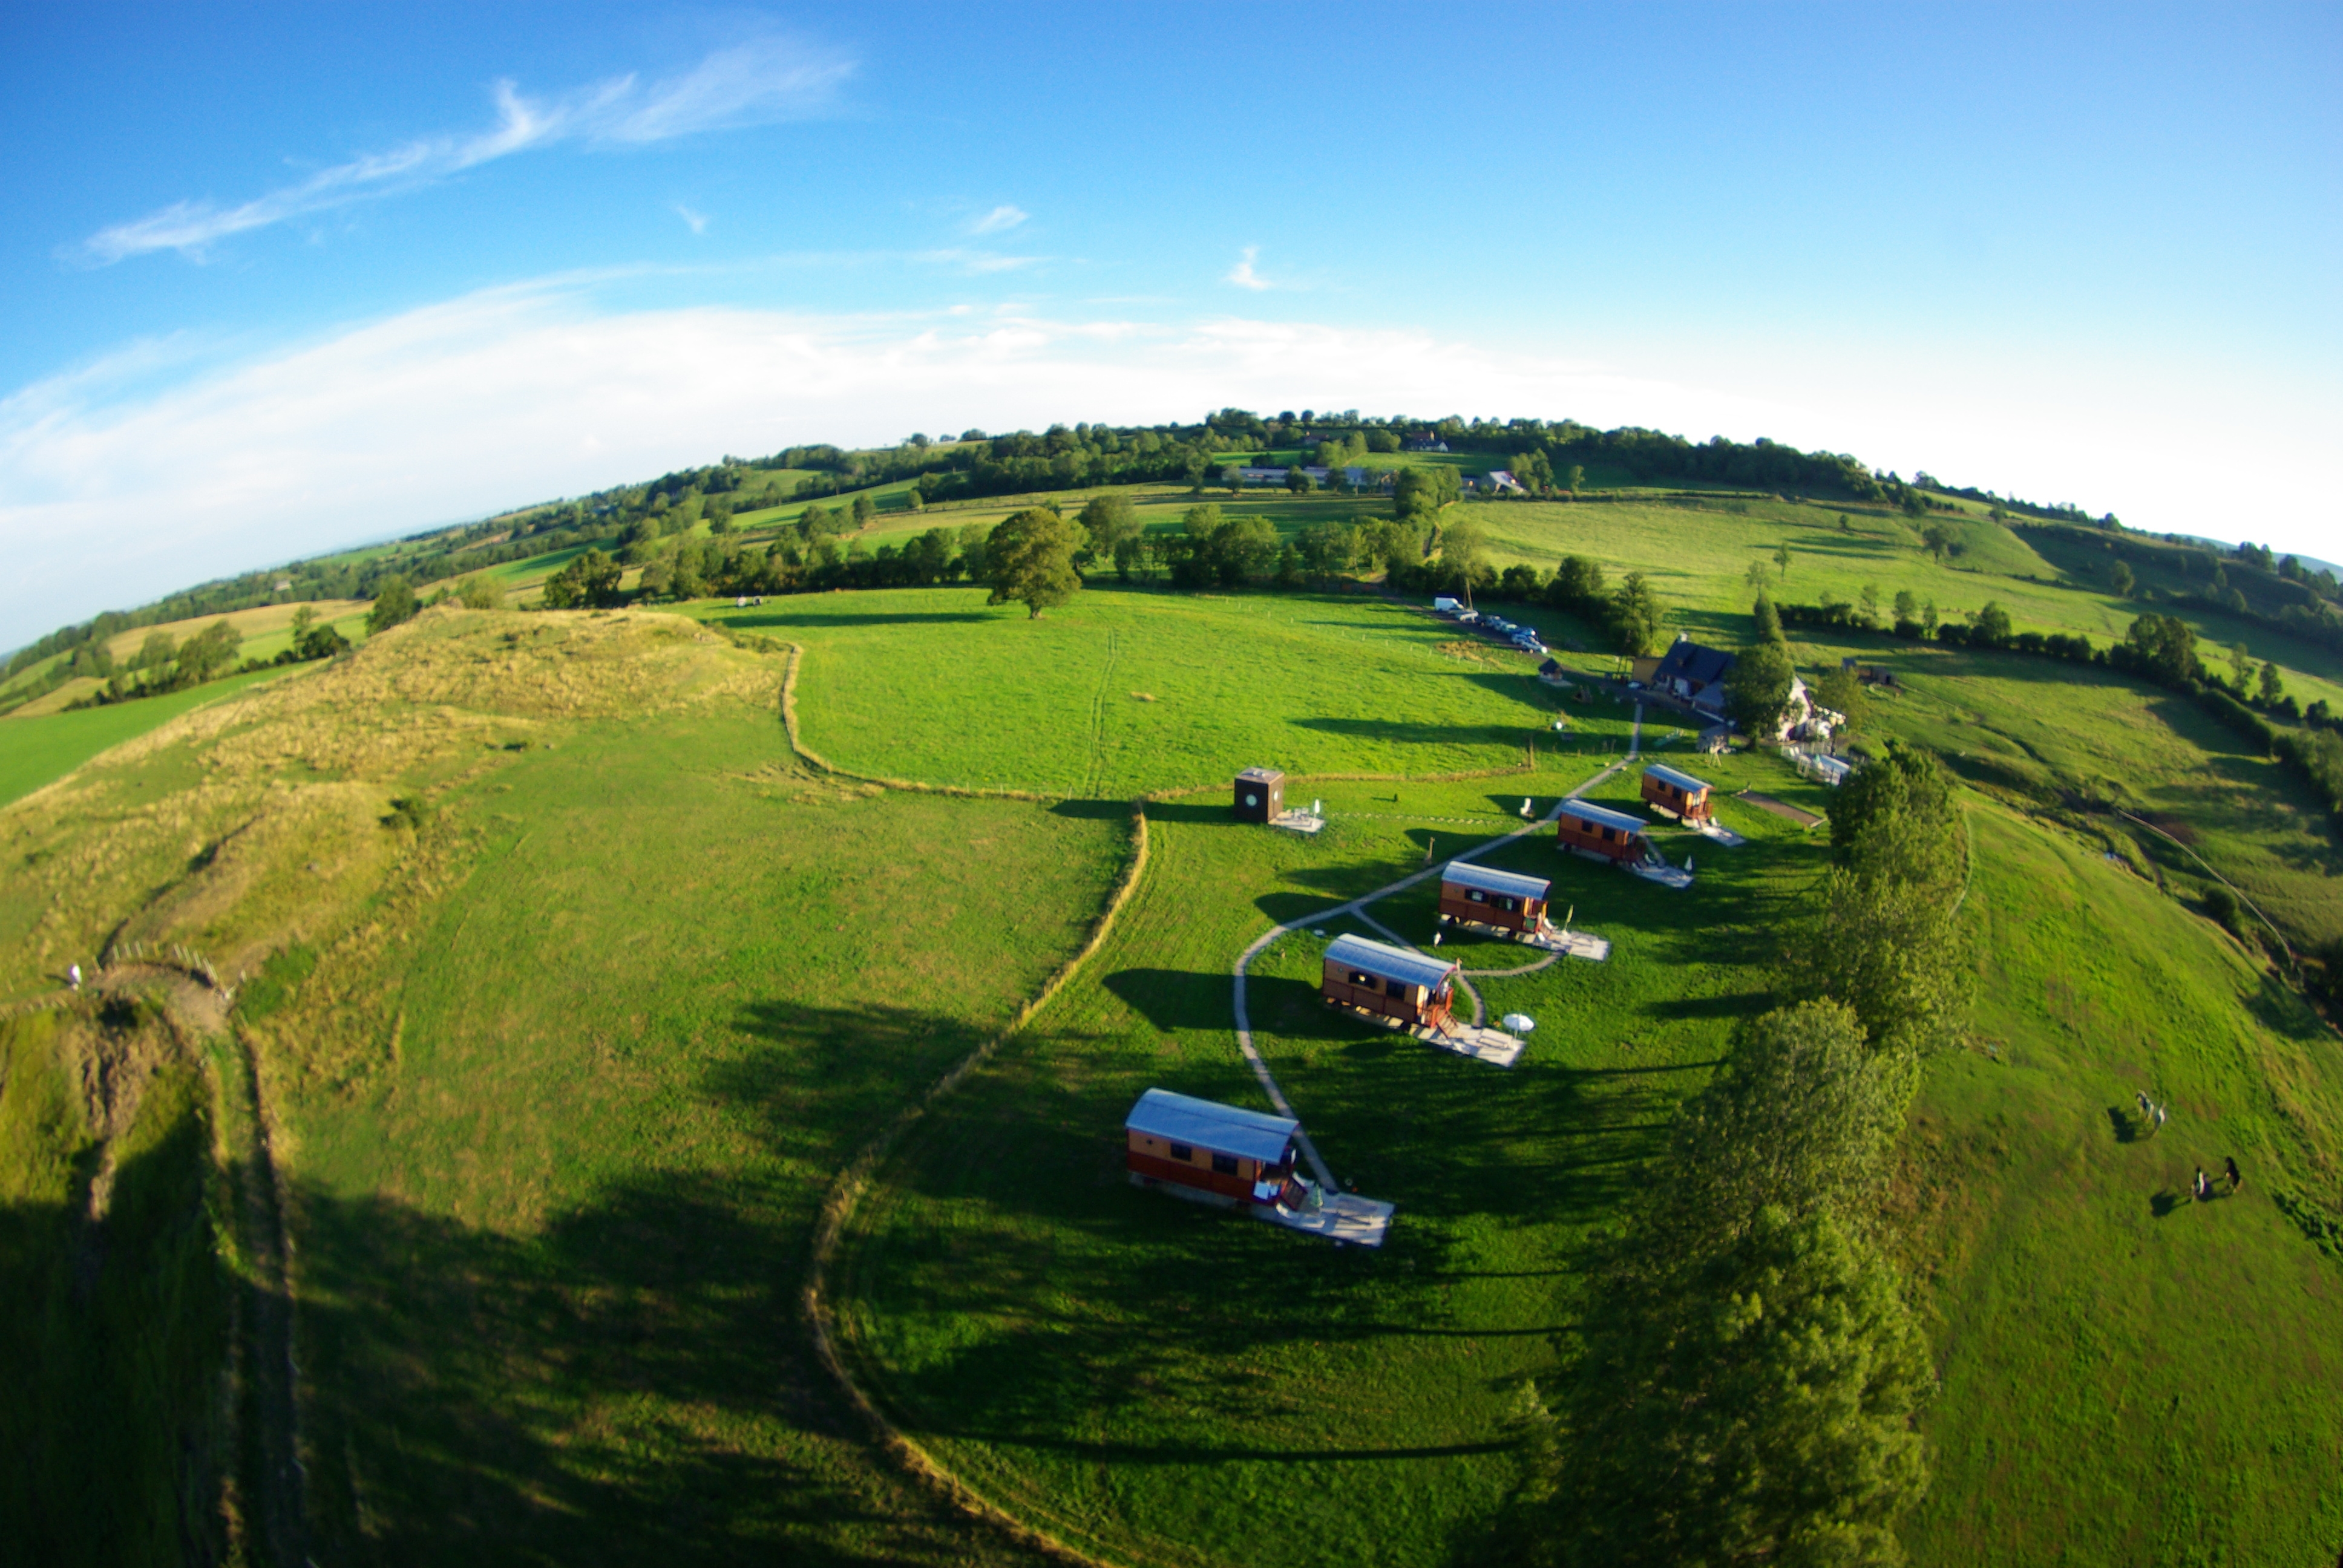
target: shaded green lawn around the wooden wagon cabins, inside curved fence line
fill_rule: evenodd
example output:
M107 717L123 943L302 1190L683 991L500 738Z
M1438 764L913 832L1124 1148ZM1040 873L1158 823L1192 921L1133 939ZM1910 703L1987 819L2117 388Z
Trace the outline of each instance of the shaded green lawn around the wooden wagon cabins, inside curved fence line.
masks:
M1776 764L1722 771L1743 769L1802 795ZM1392 881L1427 837L1462 848L1589 771L1324 785L1336 818L1312 841L1232 825L1216 799L1157 806L1146 891L1108 949L862 1216L843 1291L904 1425L1125 1561L1469 1561L1516 1479L1528 1383L1551 1376L1570 1254L1706 1076L1781 884L1816 851L1729 804L1755 844L1729 865L1703 853L1717 870L1694 900L1546 834L1504 851L1495 865L1558 877L1617 942L1605 966L1483 982L1492 1010L1539 1020L1511 1073L1328 1017L1317 938L1265 954L1261 1045L1336 1174L1399 1202L1380 1254L1139 1193L1120 1125L1150 1085L1263 1104L1228 1031L1228 963L1268 916ZM1429 940L1429 893L1378 914Z

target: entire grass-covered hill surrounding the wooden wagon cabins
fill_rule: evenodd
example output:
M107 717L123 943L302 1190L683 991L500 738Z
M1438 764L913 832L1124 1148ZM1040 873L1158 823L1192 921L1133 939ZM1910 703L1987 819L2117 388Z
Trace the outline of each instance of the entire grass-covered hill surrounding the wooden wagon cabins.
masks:
M1007 504L881 511L865 541ZM1141 518L1188 504L1146 488ZM1242 509L1293 532L1375 502ZM1710 638L1739 640L1781 541L1781 598L1994 598L2095 642L2139 609L2069 537L1982 511L1942 565L1856 504L1464 511L1500 563L1652 572ZM527 602L562 560L485 570ZM1558 1338L1603 1310L1586 1249L1818 940L1825 834L1729 797L1746 846L1661 832L1689 893L1544 834L1502 848L1612 940L1481 982L1539 1022L1511 1071L1331 1020L1317 954L1359 926L1265 952L1261 1050L1336 1172L1399 1205L1387 1249L1338 1252L1129 1188L1122 1113L1150 1085L1261 1104L1237 952L1518 825L1624 752L1631 710L1371 593L982 600L440 607L258 684L0 720L0 1430L103 1399L176 1434L56 1460L80 1488L21 1481L47 1556L1038 1561L874 1441L808 1336L841 1172L897 1125L827 1298L858 1388L968 1495L1113 1561L1502 1549ZM1570 616L1516 619L1612 663ZM1888 1212L1940 1373L1910 1554L2320 1561L2343 1545L2343 1050L2198 895L2209 863L2296 940L2343 935L2324 804L2118 673L1797 638L1806 670L1893 666L1874 734L1966 780L1980 1003L1926 1064ZM792 750L780 645L829 766ZM2343 675L2289 656L2306 698ZM1642 743L1830 811L1769 755L1685 757L1673 717ZM1232 825L1249 764L1296 773L1328 830ZM1146 863L1099 949L900 1123L1092 938L1141 795ZM1633 795L1633 771L1596 790ZM1432 935L1425 888L1375 916ZM101 954L94 991L59 994ZM134 1059L152 1088L119 1116L75 1088ZM2188 1202L2224 1155L2245 1193ZM108 1170L134 1179L101 1193ZM269 1458L295 1446L298 1472ZM94 1509L122 1530L77 1535Z

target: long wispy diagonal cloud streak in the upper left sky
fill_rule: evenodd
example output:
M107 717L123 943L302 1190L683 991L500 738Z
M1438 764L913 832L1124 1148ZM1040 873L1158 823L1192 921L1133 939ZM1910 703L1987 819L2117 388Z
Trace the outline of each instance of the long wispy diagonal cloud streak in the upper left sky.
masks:
M717 49L691 70L649 84L623 75L530 98L513 82L497 82L497 124L487 131L419 136L387 152L363 152L234 206L173 202L145 218L103 227L63 255L94 267L152 251L201 258L230 234L415 190L530 148L562 141L640 145L696 131L808 120L829 113L853 68L851 59L829 49L759 38Z

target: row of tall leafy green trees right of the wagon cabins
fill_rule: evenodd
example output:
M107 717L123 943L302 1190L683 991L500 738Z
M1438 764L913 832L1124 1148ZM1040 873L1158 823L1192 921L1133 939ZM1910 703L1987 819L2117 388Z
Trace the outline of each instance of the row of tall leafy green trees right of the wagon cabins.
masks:
M1966 853L1903 748L1832 806L1832 870L1596 1249L1530 1416L1521 1561L1898 1563L1935 1373L1881 1198L1921 1062L1966 1034Z

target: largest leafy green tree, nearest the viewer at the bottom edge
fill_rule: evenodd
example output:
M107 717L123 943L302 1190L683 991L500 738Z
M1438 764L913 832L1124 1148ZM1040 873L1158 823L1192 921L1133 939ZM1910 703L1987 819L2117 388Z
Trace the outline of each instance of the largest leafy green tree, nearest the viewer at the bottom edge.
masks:
M1832 1003L1736 1034L1596 1259L1539 1465L1558 1561L1903 1561L1933 1371L1860 1238L1912 1083Z

